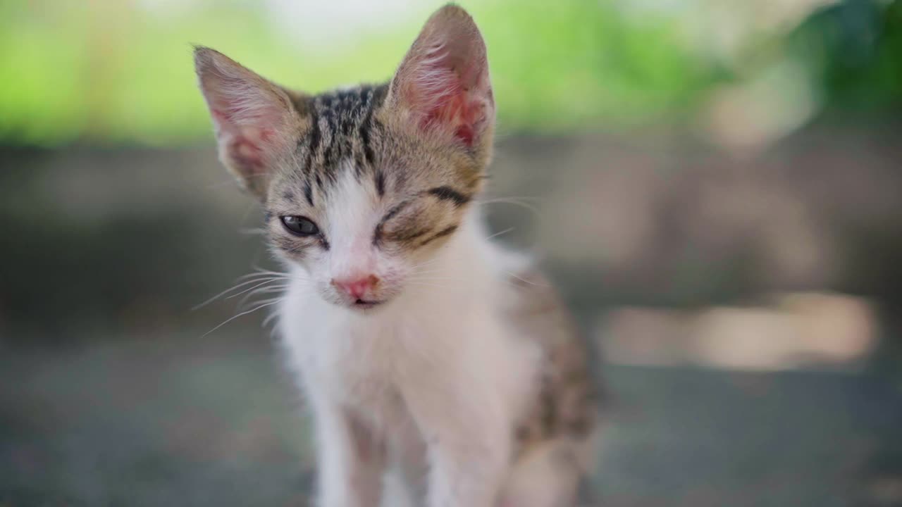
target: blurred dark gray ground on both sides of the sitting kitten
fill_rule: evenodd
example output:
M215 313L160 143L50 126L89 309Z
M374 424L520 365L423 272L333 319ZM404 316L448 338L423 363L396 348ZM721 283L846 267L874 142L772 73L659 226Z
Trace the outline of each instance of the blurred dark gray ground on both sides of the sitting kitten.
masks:
M312 452L259 329L0 358L0 505L308 505ZM604 365L602 505L902 504L899 386Z

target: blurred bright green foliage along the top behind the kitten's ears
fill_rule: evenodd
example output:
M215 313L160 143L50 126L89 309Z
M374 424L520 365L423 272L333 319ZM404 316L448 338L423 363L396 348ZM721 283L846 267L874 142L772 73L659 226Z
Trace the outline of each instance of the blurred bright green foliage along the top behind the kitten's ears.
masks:
M285 20L277 23L276 4L6 0L0 3L0 141L171 145L206 139L210 127L195 88L192 43L315 92L389 78L439 5L411 0L389 21L364 20L353 41L311 41L291 37ZM676 6L463 2L489 46L501 132L680 122L713 89L750 78L755 65L724 65L712 57L712 41L692 35L704 35L706 27L686 14L704 12L705 0L670 4ZM896 104L902 97L900 5L849 0L828 6L793 32L751 32L750 51L740 54L768 47L805 62L831 100Z

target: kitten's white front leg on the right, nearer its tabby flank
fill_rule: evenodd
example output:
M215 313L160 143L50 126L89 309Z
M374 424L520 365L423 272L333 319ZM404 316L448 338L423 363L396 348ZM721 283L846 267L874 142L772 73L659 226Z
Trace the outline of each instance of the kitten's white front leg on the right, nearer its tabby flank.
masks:
M408 400L427 440L428 507L494 507L510 463L509 421L491 390L436 395L449 385Z

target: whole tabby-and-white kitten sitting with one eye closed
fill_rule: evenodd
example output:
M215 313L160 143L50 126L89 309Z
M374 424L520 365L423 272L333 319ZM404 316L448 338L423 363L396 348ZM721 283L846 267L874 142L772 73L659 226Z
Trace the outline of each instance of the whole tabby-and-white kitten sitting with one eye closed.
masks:
M474 204L495 106L469 14L438 10L377 86L310 96L195 60L220 158L291 273L279 328L316 420L318 504L574 505L593 384L554 292Z

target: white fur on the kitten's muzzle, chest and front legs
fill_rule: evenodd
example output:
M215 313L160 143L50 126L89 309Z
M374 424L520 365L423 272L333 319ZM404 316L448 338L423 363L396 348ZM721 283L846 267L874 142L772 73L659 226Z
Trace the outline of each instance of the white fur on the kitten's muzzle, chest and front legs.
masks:
M353 178L339 182L327 212L335 240L316 261L327 267L293 266L299 281L280 309L317 423L319 505L378 505L391 465L387 489L406 490L412 505L494 507L537 373L538 349L513 336L499 311L512 268L474 208L428 263L441 281L410 282L364 312L327 301L325 281L336 273L394 270L405 272L395 280L404 285L412 272L368 239L377 200ZM301 281L308 277L312 285Z

